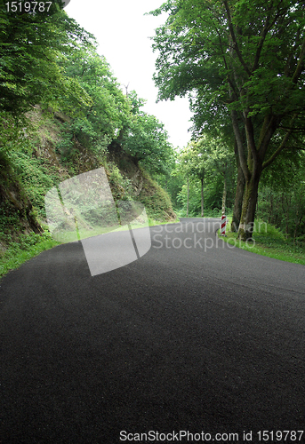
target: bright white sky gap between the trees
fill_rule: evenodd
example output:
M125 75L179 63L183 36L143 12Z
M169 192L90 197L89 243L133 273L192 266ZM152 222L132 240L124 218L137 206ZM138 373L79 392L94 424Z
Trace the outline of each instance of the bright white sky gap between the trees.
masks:
M155 35L166 16L144 16L164 1L70 0L65 11L96 37L98 52L106 57L118 83L148 100L142 109L165 123L170 142L182 148L190 139L189 101L178 98L156 104L157 88L152 79L157 54L152 52L148 37Z

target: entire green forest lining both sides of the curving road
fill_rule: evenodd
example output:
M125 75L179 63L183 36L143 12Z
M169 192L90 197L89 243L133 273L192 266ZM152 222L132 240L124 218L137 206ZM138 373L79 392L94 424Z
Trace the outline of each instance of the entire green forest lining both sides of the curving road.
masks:
M167 14L151 36L158 100L188 97L193 112L181 149L62 6L0 12L0 254L46 239L44 195L99 166L151 219L222 213L242 241L260 219L302 248L305 5L168 0L148 12Z

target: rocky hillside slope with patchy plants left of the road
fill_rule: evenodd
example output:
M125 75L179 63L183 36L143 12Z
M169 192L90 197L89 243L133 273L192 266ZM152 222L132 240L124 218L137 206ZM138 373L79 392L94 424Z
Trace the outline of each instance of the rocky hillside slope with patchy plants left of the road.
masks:
M76 138L67 149L67 115L35 107L28 113L24 146L0 157L0 247L20 234L46 227L44 195L52 186L88 170L104 167L115 200L142 202L148 218L175 218L168 194L122 147L110 144L94 151Z

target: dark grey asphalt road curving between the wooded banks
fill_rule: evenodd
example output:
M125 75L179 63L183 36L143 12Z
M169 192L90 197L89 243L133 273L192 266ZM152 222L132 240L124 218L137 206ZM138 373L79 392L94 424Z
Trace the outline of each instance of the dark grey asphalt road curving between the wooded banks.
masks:
M305 442L305 267L187 221L105 274L75 242L0 281L1 444Z

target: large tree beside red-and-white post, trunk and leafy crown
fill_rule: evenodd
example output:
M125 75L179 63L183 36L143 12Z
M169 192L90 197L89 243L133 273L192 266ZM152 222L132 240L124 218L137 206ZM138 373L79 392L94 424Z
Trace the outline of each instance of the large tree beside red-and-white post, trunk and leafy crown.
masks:
M158 99L189 93L195 125L229 115L245 194L238 228L252 238L261 173L303 131L305 6L291 0L168 0L154 37ZM285 174L285 171L283 171Z

